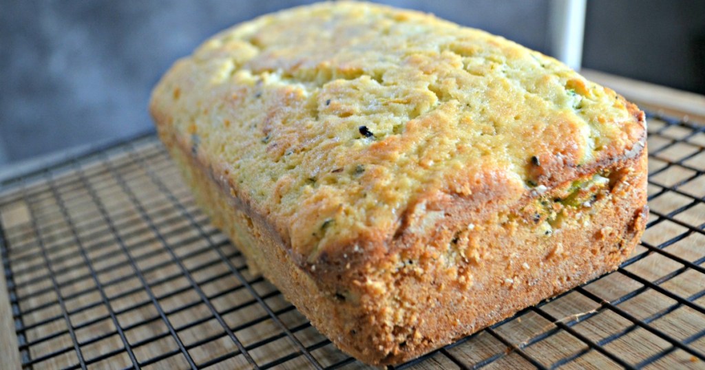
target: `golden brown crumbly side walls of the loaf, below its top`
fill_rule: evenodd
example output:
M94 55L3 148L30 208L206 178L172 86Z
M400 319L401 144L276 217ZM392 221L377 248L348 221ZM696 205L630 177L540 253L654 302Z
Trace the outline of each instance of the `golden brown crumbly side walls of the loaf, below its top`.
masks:
M611 168L610 185L596 192L589 207L569 209L560 231L550 236L541 226L550 215L541 214L539 200L483 216L472 228L448 223L430 235L400 236L396 252L362 255L364 268L310 271L286 252L266 219L228 195L188 148L165 142L199 204L250 265L336 346L368 364L407 361L616 269L646 222L640 205L646 197L644 150ZM562 195L565 190L542 199L553 209Z

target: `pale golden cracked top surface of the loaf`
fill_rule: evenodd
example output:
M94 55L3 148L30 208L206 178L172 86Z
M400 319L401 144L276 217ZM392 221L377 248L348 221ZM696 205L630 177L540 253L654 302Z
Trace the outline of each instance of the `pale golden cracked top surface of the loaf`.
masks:
M219 33L151 109L309 264L438 227L448 199L534 197L634 156L645 135L633 104L553 58L354 2Z

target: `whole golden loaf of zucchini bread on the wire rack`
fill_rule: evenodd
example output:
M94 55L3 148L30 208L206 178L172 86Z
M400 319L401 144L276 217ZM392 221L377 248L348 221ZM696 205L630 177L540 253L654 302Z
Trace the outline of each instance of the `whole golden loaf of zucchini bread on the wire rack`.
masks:
M644 229L642 111L423 13L338 2L237 25L150 109L250 268L368 364L612 271Z

